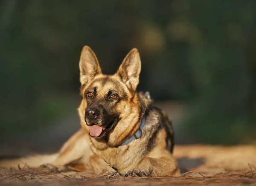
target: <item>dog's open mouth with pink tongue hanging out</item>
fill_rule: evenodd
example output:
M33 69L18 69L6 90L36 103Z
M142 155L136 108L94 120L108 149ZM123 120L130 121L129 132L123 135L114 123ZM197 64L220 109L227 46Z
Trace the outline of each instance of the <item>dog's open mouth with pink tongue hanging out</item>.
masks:
M116 124L116 121L113 121L109 123L106 127L102 127L93 123L89 127L90 137L96 137L96 138L104 137L107 132L113 129L115 124Z

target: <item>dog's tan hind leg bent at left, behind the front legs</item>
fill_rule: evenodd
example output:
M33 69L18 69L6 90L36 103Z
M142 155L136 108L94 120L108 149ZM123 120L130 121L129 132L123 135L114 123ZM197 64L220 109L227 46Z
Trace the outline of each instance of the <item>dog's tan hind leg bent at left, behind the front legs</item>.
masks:
M90 147L87 143L86 133L84 129L80 129L75 134L73 134L67 142L64 143L61 150L58 152L58 157L50 165L43 165L54 170L58 171L66 170L66 166L69 163L72 163L76 160L86 161L89 159ZM84 156L88 156L87 158ZM85 162L84 162L85 163Z

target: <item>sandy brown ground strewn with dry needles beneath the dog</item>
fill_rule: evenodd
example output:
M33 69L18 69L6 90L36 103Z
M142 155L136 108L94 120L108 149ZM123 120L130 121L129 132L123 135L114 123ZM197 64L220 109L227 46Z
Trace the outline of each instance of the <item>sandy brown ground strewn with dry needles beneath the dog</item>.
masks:
M176 145L179 177L110 177L91 172L0 169L0 185L256 185L256 147Z

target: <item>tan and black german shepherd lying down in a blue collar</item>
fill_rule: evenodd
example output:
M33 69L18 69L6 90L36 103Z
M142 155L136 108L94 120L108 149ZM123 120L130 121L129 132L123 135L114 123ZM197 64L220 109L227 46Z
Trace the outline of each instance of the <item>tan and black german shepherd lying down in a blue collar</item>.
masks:
M48 163L63 171L79 162L99 175L178 176L172 124L152 105L148 93L136 90L141 70L138 50L132 49L119 70L107 76L92 49L84 46L79 69L81 129L56 154L2 161L0 166Z

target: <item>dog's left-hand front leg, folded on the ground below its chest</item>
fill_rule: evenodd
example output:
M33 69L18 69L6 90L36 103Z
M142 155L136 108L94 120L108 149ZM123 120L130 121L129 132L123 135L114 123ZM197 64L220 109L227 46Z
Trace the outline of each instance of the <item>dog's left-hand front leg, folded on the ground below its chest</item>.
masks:
M120 176L119 172L112 168L110 164L99 155L92 155L90 157L89 166L99 176Z

